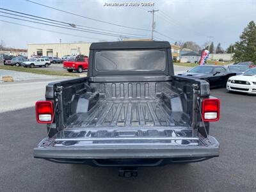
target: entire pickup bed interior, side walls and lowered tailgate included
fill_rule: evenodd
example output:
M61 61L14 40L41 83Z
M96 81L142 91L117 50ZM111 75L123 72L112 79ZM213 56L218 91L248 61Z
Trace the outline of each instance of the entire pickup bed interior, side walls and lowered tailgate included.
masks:
M61 84L65 127L42 140L35 157L86 163L90 159L202 161L218 156L218 141L192 127L193 81L183 77L173 84L82 80Z

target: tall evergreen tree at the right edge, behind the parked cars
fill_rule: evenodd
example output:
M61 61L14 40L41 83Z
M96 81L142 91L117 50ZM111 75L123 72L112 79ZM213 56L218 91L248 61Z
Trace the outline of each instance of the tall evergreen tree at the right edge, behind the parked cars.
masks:
M234 61L256 63L256 25L253 20L244 28L240 41L235 44Z

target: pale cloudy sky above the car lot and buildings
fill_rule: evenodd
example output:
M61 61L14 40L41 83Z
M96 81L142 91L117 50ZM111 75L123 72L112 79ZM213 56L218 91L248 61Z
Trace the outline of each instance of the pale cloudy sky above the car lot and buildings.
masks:
M31 0L36 1L36 0ZM93 1L93 0L47 0L36 1L60 10L76 13L85 17L129 26L132 28L151 29L152 14L147 10L152 8L159 10L155 14L156 39L168 40L171 43L194 41L202 46L209 41L207 36L213 36L214 45L221 43L226 49L228 45L239 40L239 35L250 20L256 21L256 0L209 0L209 1ZM130 3L149 2L154 6L104 6L105 3ZM70 22L72 24L88 26L93 28L132 33L136 35L150 36L150 31L121 28L110 24L104 24L95 20L85 19L76 15L52 10L38 4L29 3L24 0L0 0L1 8L28 13L40 17L46 17L58 21ZM3 10L0 10L3 11ZM6 15L0 13L0 15ZM11 15L10 15L11 16ZM16 17L16 16L11 16ZM20 18L20 17L19 17ZM8 47L26 48L27 44L57 43L60 42L99 42L99 40L115 41L118 37L74 31L70 29L56 28L25 22L22 20L0 17L0 20L15 22L26 26L18 26L0 21L0 39ZM53 33L68 33L70 35ZM77 36L71 36L77 35ZM168 37L166 37L168 36Z

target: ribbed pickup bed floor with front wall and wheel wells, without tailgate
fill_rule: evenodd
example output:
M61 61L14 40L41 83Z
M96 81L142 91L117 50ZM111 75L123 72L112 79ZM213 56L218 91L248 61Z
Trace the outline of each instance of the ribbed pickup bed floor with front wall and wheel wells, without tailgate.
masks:
M68 128L188 127L190 124L180 95L173 92L169 83L92 83L90 86L95 92L79 96L79 109L68 118ZM86 107L88 110L84 110Z

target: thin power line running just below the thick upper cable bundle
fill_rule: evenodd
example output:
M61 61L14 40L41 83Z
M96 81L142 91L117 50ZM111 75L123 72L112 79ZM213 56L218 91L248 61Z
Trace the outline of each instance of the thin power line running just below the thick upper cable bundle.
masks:
M89 29L68 28L68 27L64 27L64 26L56 26L56 25L53 25L53 24L46 24L46 23L36 22L36 21L32 21L32 20L19 19L17 17L9 17L9 16L6 16L6 15L0 15L0 17L7 17L7 18L10 18L10 19L24 20L26 22L33 22L33 23L37 23L37 24L43 24L43 25L46 25L46 26L53 26L53 27L56 27L56 28L71 29L71 30L75 30L75 31L83 31L83 32L94 33L94 34L99 34L99 35L108 35L108 36L116 36L116 37L120 36L120 35L114 34L114 33L106 33L106 32L94 31L94 30L89 30ZM140 39L138 36L127 36L127 37Z

